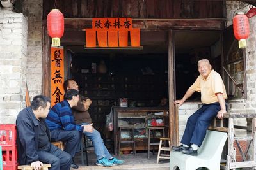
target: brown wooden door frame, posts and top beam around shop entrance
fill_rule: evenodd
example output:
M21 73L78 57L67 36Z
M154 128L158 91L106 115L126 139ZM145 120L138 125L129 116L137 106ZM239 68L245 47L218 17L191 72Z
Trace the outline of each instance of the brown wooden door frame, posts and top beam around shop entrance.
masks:
M223 30L224 22L222 19L141 19L134 18L134 25L140 29L147 29L148 31L163 31L168 32L168 93L169 93L169 136L172 145L179 143L179 113L178 108L174 106L175 100L175 57L174 57L174 43L173 43L173 29L177 30ZM92 18L65 18L65 27L69 30L78 31L84 27L90 27ZM50 94L50 38L47 35L46 22L43 22L43 78L42 78L42 94L51 96ZM47 79L48 78L48 79Z

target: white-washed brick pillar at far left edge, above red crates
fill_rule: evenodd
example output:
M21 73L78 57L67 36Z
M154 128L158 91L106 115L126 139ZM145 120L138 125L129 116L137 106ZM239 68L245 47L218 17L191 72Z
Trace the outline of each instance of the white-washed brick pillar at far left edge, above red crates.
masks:
M0 7L0 124L14 124L25 106L27 19Z

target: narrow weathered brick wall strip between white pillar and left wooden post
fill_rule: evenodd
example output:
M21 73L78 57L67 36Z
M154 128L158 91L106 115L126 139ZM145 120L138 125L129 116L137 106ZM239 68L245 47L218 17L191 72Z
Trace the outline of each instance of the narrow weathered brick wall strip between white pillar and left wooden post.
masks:
M42 93L42 0L24 0L22 13L28 17L26 80L32 98Z

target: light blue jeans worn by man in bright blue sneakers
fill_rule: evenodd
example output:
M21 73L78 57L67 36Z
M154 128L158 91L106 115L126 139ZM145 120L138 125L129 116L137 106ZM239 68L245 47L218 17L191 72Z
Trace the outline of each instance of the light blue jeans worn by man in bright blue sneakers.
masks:
M88 125L87 123L83 123L81 125ZM92 133L90 132L83 132L87 138L89 138L94 146L94 152L97 156L97 159L101 159L106 157L106 159L111 159L112 156L108 152L108 149L103 143L100 133L94 129Z

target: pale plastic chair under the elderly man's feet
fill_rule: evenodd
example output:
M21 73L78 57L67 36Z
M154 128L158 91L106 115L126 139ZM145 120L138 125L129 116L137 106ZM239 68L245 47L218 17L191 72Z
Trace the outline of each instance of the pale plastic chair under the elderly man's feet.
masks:
M177 167L180 170L196 170L199 167L207 167L209 170L220 169L221 153L227 138L227 133L207 130L197 156L177 151L170 153L170 170Z

